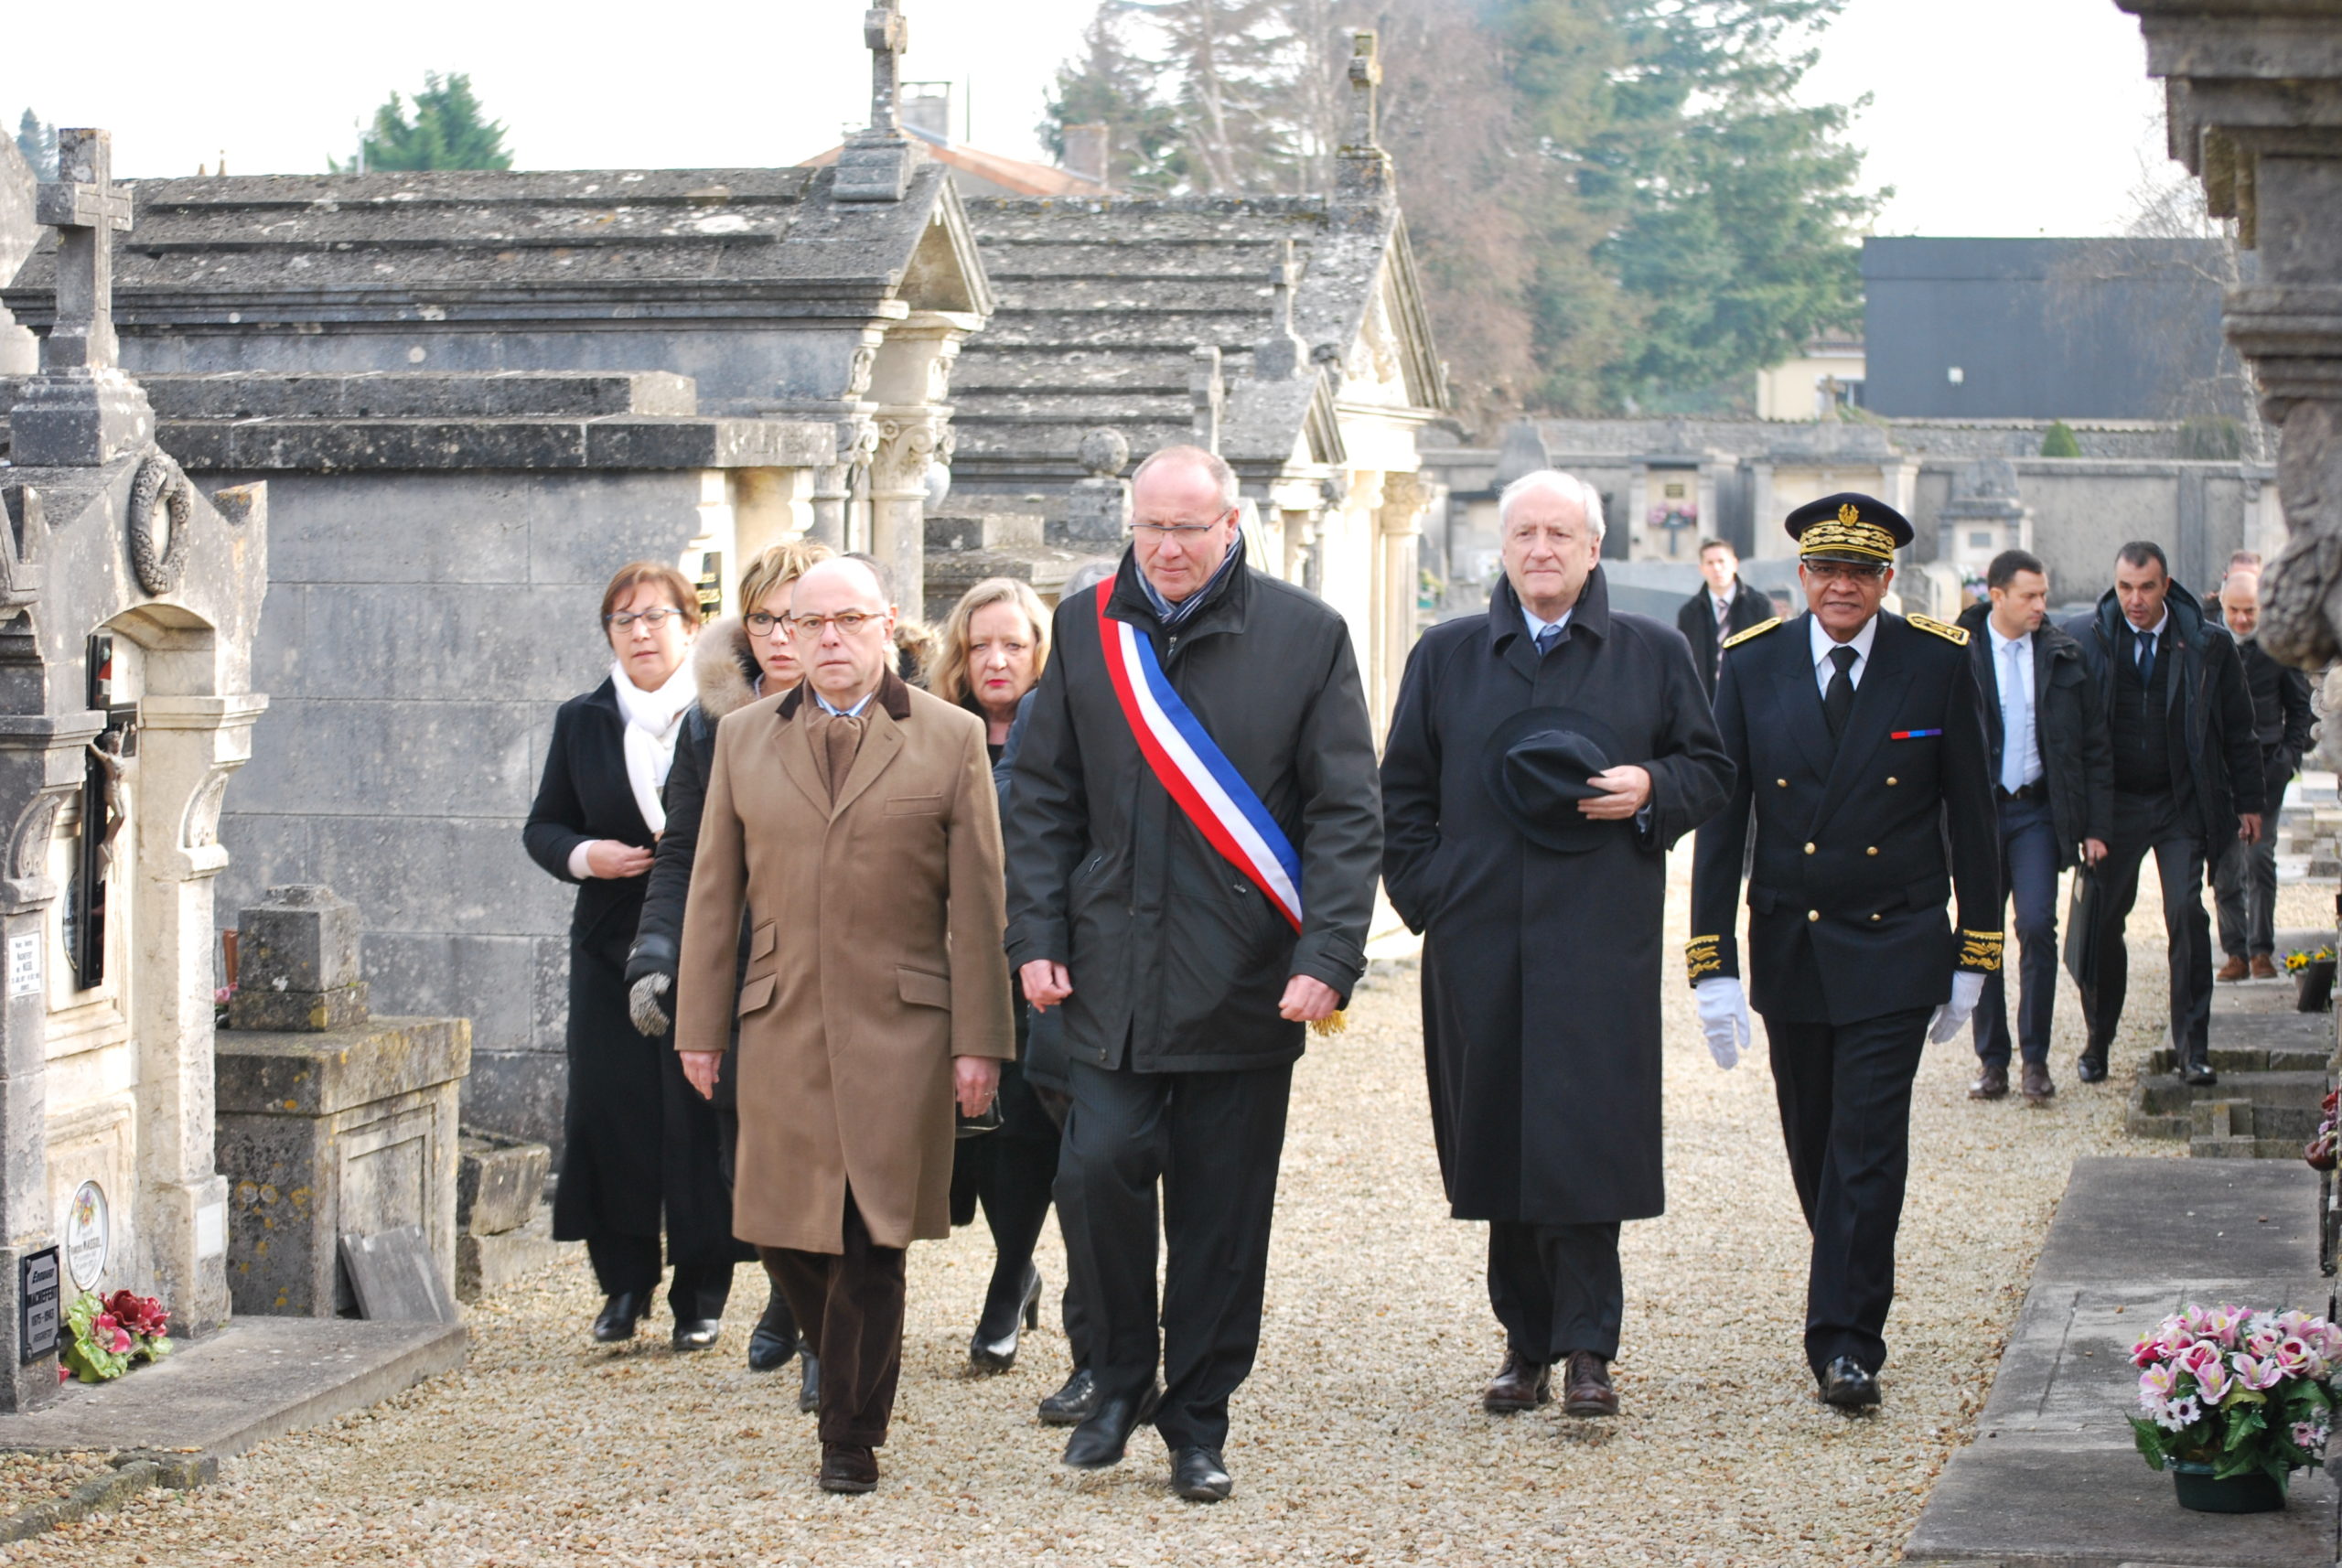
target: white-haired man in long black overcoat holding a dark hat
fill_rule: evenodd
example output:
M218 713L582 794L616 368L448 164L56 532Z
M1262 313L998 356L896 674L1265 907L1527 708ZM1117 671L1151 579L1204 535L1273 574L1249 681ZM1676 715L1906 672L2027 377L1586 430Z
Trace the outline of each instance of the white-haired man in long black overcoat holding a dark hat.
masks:
M1614 611L1602 498L1539 470L1497 503L1485 615L1408 658L1382 756L1382 875L1424 941L1447 1212L1487 1219L1506 1357L1490 1411L1618 1409L1618 1224L1665 1208L1668 847L1731 789L1679 632Z

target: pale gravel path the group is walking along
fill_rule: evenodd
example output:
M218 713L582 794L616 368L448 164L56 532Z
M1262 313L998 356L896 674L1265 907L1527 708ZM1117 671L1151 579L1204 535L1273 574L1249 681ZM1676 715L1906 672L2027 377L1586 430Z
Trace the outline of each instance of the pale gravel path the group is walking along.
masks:
M1675 875L1682 941L1684 857ZM2279 924L2314 924L2328 899L2283 889ZM2122 1135L2134 1065L2162 1034L2152 887L2131 953L2131 1018L2105 1086L2073 1079L2070 988L2045 1109L1972 1105L1965 1039L1927 1048L1876 1418L1813 1399L1799 1353L1806 1233L1771 1077L1761 1053L1714 1070L1672 960L1672 1203L1625 1236L1623 1414L1480 1414L1501 1355L1485 1240L1445 1219L1415 971L1393 969L1295 1077L1267 1339L1234 1404L1237 1495L1220 1507L1171 1498L1148 1435L1119 1470L1059 1467L1063 1435L1033 1421L1063 1376L1054 1329L1028 1336L1012 1374L967 1376L991 1266L979 1226L911 1252L906 1369L876 1495L817 1493L794 1369L742 1369L763 1304L754 1271L740 1273L724 1348L677 1357L663 1334L590 1346L597 1297L578 1268L473 1311L466 1371L267 1444L218 1486L145 1495L0 1561L63 1561L61 1547L80 1568L1895 1561L1984 1402L2070 1161L2183 1149ZM1042 1268L1054 1299L1054 1231Z

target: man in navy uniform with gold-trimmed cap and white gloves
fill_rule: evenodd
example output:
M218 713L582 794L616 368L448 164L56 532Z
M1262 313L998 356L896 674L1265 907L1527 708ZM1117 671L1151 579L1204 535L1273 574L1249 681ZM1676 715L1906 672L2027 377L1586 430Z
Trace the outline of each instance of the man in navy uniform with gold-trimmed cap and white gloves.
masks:
M1806 1360L1822 1399L1860 1409L1878 1404L1920 1046L1958 1034L2000 967L2000 840L1967 632L1881 611L1911 524L1838 494L1787 527L1808 608L1726 641L1738 784L1698 835L1686 960L1731 1067L1752 1034L1733 927L1754 831L1749 985L1813 1231Z

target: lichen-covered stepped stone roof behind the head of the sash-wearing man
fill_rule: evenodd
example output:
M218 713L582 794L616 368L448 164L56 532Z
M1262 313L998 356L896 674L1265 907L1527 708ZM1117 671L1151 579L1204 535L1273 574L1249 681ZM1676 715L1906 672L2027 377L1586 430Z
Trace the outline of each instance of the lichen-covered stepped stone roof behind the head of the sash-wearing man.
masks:
M960 484L1075 480L1080 440L1098 426L1122 431L1131 452L1187 440L1197 346L1220 349L1230 384L1223 454L1246 470L1274 468L1302 438L1316 367L1349 363L1377 288L1401 297L1408 400L1445 403L1393 208L1323 197L993 197L970 199L967 220L998 304L953 374ZM1286 243L1300 267L1293 330L1309 358L1295 377L1262 381L1253 356L1279 330Z

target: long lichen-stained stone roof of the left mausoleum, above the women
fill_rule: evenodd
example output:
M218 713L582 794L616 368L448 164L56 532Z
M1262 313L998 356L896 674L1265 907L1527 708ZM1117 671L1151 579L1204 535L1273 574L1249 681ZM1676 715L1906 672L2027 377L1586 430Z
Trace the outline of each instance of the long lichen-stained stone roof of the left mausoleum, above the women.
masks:
M810 169L429 171L141 180L115 318L674 321L867 314L927 283L981 311L981 269L937 267L958 197L937 166L902 201L831 201ZM47 323L54 239L5 293ZM970 276L946 276L972 271Z

